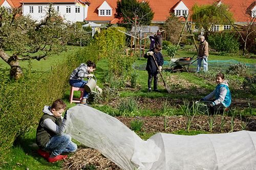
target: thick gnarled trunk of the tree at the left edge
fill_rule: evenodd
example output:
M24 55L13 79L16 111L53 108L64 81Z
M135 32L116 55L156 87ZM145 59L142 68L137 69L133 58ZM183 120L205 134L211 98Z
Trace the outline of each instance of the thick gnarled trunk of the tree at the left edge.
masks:
M23 77L22 67L19 66L19 62L14 57L9 56L3 48L0 48L0 57L11 66L10 76L15 79L20 79Z

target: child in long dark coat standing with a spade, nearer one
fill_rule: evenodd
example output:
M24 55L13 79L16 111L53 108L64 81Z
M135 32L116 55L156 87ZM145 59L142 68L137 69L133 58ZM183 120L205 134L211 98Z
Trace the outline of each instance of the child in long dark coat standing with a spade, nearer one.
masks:
M157 89L158 71L161 71L162 66L163 66L163 55L160 52L161 50L162 50L162 47L160 45L156 45L155 48L152 48L151 50L147 51L147 53L144 55L144 58L147 58L146 70L148 72L148 80L147 80L148 92L152 92L151 84L152 84L153 78L154 78L154 90L153 91L161 92L161 90ZM154 61L153 55L156 59L159 70Z

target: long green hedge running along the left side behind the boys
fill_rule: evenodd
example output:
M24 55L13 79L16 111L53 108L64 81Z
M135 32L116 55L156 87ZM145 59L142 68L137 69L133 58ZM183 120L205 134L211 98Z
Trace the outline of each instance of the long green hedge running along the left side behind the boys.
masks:
M69 76L80 63L97 62L93 47L81 47L49 72L26 76L14 83L0 72L0 162L4 162L14 140L37 127L42 109L62 98L69 89Z

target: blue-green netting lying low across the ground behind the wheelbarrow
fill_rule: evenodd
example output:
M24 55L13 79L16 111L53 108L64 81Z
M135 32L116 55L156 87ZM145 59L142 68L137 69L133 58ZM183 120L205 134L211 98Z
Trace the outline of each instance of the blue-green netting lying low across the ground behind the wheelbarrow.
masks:
M221 68L222 69L221 71L226 71L230 65L239 64L239 63L240 63L239 61L236 61L234 59L208 60L208 68L211 68L211 69L220 69ZM163 67L166 68L165 69L166 71L171 71L171 69L168 69L168 68L170 68L172 65L176 65L176 64L174 62L170 62L170 61L164 61L164 63L163 63ZM245 65L249 66L249 69L256 73L256 63L245 64ZM137 70L145 70L146 69L146 63L144 63L144 64L134 63L132 66L134 69L137 69ZM203 66L203 63L202 63L202 66ZM196 71L195 68L197 67L197 61L192 63L191 67L194 68L192 70L192 72L195 72Z

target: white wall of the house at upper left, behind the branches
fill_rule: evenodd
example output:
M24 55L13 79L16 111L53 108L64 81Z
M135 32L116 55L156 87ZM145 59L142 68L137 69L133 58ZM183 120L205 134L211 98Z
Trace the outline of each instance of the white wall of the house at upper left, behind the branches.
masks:
M30 13L30 6L33 6L33 13ZM38 6L42 6L42 13L38 13ZM42 19L42 17L45 16L45 11L44 9L46 9L48 5L27 5L24 4L23 5L23 14L24 15L31 15L32 18L36 19L36 20L40 20ZM75 6L75 4L55 4L54 7L57 10L57 6L59 7L59 13L61 15L61 17L65 18L66 20L70 21L70 22L76 22L76 21L83 21L84 18L87 17L87 11L88 11L88 6L86 8L84 7L80 7L80 6ZM71 8L71 12L67 13L66 9L67 6L70 6ZM80 7L80 13L75 13L75 7Z

